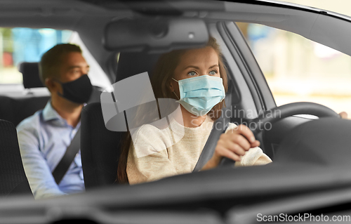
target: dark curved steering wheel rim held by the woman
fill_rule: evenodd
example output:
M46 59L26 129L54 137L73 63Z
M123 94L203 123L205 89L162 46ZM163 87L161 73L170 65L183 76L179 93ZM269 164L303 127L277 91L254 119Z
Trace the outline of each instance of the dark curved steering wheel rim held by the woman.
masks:
M299 102L299 103L289 103L279 107L275 107L272 110L267 110L260 114L259 117L247 122L249 128L257 137L260 131L264 130L267 124L274 124L275 122L290 117L296 114L311 114L317 117L338 117L340 115L331 110L329 107L320 105L318 103L309 102ZM228 158L223 158L220 165L234 165L235 161Z

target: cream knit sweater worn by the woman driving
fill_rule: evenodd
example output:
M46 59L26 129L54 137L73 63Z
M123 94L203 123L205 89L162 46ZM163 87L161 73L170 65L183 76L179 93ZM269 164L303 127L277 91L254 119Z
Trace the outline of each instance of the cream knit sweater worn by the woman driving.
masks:
M187 128L172 120L166 129L150 124L133 133L128 152L127 175L130 184L191 173L211 133L213 121L206 117L201 126ZM230 124L227 131L234 129ZM251 148L234 166L263 165L272 162L259 147Z

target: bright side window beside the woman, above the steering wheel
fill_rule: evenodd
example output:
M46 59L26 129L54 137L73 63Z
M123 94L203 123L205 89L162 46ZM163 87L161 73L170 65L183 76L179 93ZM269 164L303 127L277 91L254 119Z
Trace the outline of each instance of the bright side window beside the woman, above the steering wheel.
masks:
M351 114L351 58L281 29L237 22L277 106L308 101Z

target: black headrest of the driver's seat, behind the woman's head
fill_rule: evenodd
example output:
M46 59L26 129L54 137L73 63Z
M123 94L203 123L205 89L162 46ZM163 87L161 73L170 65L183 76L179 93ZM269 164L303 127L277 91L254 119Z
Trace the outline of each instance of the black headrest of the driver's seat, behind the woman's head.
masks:
M120 53L116 82L143 72L147 72L151 77L152 70L159 56L160 54L158 53Z

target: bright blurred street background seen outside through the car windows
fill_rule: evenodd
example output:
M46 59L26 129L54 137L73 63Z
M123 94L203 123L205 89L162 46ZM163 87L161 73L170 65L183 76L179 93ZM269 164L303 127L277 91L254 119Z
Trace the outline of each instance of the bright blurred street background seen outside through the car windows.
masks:
M351 15L350 0L286 0ZM310 101L345 111L351 117L351 57L298 34L257 24L237 23L265 74L277 105ZM79 35L69 30L1 28L0 85L22 84L20 62L39 62L41 55L55 44L76 43L83 46ZM84 55L96 70L95 85L101 81L100 66L91 55ZM91 62L89 62L91 61ZM92 66L91 66L92 67ZM99 74L99 75L98 75ZM99 78L100 77L100 78ZM92 78L92 77L91 77ZM100 81L100 83L99 83ZM92 79L94 82L94 79Z

